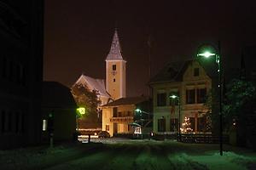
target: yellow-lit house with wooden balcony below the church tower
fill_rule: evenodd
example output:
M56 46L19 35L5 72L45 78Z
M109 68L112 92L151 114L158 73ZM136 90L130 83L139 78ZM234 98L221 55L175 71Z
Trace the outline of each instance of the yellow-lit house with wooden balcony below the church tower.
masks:
M148 127L151 121L150 107L146 97L130 97L116 99L107 105L102 105L102 130L110 136L118 133L134 133L132 123ZM137 113L140 109L141 113Z

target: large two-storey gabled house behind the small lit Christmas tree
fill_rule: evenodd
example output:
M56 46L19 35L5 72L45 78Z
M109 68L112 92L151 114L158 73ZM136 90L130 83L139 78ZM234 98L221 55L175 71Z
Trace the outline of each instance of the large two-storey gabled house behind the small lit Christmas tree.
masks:
M185 119L189 120L192 132L206 131L205 114L208 108L204 103L212 84L215 84L211 69L207 72L198 60L172 62L150 80L149 86L153 88L154 133L177 133L178 123L181 130L185 130ZM173 99L173 94L178 98Z

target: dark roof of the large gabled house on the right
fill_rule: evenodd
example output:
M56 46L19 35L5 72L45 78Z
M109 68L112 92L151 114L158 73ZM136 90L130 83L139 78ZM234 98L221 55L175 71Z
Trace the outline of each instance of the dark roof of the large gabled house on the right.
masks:
M156 74L153 78L150 79L149 83L154 82L181 82L183 80L183 73L187 70L189 64L193 61L192 59L185 61L177 61L171 62L167 64L158 74ZM207 75L209 77L217 76L217 65L215 61L206 62L203 60L196 60L199 64L207 71Z

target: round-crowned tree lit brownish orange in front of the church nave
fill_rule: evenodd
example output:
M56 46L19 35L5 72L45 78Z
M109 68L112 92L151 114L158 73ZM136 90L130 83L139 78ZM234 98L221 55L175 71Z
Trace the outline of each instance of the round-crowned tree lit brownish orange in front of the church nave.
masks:
M98 111L98 106L101 104L101 100L98 98L99 93L96 90L90 91L84 84L75 84L71 92L77 105L85 108L85 114L79 115L80 119L87 123L99 122L101 120Z

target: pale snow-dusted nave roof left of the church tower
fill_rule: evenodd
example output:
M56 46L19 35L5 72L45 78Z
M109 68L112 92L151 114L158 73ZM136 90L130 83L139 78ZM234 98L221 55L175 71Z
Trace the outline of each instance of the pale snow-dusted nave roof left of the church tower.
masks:
M105 88L103 79L95 79L82 74L75 84L85 84L90 90L97 90L101 96L110 97Z

